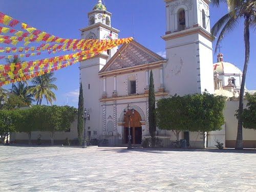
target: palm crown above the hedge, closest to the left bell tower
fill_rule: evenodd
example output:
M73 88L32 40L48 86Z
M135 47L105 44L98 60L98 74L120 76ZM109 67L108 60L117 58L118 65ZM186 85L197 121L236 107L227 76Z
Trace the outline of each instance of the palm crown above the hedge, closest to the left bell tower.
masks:
M47 73L31 80L34 86L29 89L29 92L35 96L36 104L41 105L43 97L46 98L47 104L49 102L52 104L53 100L56 101L56 96L52 89L58 90L57 86L53 84L57 78L53 77L53 75L53 73Z

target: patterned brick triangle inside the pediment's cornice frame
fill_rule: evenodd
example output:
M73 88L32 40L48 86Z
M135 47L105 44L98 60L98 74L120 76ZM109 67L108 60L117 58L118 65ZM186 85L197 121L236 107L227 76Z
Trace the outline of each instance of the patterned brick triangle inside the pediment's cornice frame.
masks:
M133 44L129 44L106 71L138 66L145 63L156 62L158 60L158 58L150 53L143 51Z

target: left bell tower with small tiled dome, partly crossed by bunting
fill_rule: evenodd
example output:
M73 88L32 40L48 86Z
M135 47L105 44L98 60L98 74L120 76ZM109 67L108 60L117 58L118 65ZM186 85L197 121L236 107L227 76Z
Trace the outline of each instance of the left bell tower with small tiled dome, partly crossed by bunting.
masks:
M80 29L83 39L117 39L119 30L112 27L112 13L107 11L101 0L88 13L88 26ZM117 47L104 51L94 57L80 62L80 82L83 88L84 108L90 114L86 121L86 134L97 137L102 130L101 107L99 99L102 98L103 83L99 78L99 71L106 62L117 52ZM99 133L98 133L99 132Z

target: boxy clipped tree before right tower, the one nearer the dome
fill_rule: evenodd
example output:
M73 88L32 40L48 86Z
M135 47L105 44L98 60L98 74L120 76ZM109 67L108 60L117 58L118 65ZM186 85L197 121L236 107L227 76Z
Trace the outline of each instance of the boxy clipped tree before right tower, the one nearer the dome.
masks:
M221 130L225 123L223 110L225 98L207 92L190 96L188 103L189 130L207 133Z

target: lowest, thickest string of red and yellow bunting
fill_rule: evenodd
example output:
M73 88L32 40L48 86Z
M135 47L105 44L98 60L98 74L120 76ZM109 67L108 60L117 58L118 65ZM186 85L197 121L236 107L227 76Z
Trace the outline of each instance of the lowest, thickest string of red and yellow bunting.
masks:
M0 86L12 82L29 80L45 73L50 73L62 68L66 68L76 62L89 59L103 51L112 49L121 44L128 44L132 40L132 37L108 41L104 40L105 44L102 44L98 48L94 48L91 50L35 61L25 61L22 63L10 63L8 65L0 65Z

